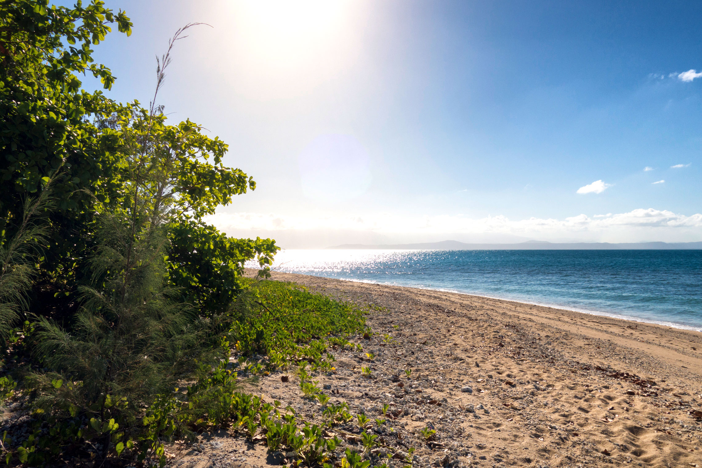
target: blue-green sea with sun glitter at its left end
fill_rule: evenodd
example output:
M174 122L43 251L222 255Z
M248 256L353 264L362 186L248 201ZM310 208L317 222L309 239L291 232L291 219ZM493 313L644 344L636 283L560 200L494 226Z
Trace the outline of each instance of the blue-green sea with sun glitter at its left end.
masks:
M273 269L702 331L702 250L291 249Z

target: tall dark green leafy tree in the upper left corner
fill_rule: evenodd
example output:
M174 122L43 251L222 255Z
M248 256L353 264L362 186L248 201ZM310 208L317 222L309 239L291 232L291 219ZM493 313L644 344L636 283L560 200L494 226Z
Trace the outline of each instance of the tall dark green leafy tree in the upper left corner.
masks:
M100 0L74 8L49 7L48 0L0 3L0 180L12 188L0 194L2 222L17 217L22 196L37 193L58 171L53 193L62 211L89 210L93 196L108 201L119 188L116 135L88 119L108 116L116 105L82 90L77 77L91 73L105 89L112 86L110 69L91 57L91 45L105 39L111 23L131 34L124 12Z

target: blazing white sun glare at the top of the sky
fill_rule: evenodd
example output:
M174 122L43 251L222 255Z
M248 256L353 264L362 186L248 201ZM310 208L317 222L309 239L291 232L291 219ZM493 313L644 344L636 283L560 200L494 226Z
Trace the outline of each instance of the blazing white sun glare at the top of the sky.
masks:
M294 98L353 69L367 12L351 1L220 1L213 43L222 78L255 100Z

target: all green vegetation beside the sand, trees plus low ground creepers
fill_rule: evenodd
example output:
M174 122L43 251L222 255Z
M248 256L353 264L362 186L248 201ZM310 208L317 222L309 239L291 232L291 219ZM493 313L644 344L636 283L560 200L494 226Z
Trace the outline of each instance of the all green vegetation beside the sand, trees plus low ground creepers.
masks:
M352 415L314 375L334 370L330 347L362 350L350 337L372 333L369 308L267 281L273 239L204 221L256 182L224 166L225 142L157 103L173 47L201 25L157 59L147 107L84 89L87 74L112 87L93 47L132 26L100 0L0 4L0 398L14 408L0 455L163 467L197 434L227 429L296 466L327 464L331 428ZM243 276L250 260L256 278ZM324 422L250 392L284 370ZM378 442L364 434L368 452ZM352 450L340 463L369 465Z

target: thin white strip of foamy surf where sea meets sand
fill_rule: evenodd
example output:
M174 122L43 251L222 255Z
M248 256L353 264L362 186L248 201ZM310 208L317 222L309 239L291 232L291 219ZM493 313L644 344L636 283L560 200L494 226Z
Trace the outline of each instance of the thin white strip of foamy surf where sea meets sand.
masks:
M637 322L637 323L647 323L649 325L658 325L658 326L663 326L663 327L675 328L677 330L688 330L688 331L694 331L694 332L702 332L702 325L701 326L690 326L690 325L684 325L682 323L675 323L675 322L671 322L671 321L656 321L653 319L651 319L651 320L642 319L641 317L637 317L637 316L625 316L622 314L616 314L615 312L591 311L591 310L585 310L585 309L571 309L571 308L569 308L569 306L566 306L566 305L529 302L527 300L510 299L508 297L495 297L495 296L476 294L476 293L465 293L461 290L448 289L448 288L428 288L425 286L409 286L409 285L401 285L401 284L381 283L380 281L373 281L370 279L330 278L329 276L307 274L307 273L288 273L288 272L277 272L277 273L295 274L295 275L302 275L302 276L314 276L315 278L324 278L324 279L331 279L331 280L338 280L338 281L350 281L352 283L377 284L379 286L391 286L391 287L395 287L395 288L410 288L410 289L418 289L418 290L440 291L440 292L444 292L444 293L461 294L461 295L468 295L468 296L475 296L475 297L485 297L486 299L503 300L503 301L508 301L508 302L518 302L519 304L534 305L534 306L538 306L538 307L548 307L550 309L566 310L568 312L577 312L578 314L588 314L588 315L592 315L592 316L608 317L610 319L632 321L632 322Z

